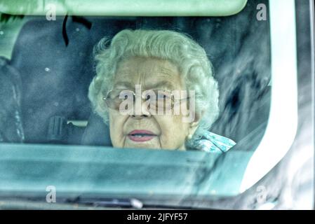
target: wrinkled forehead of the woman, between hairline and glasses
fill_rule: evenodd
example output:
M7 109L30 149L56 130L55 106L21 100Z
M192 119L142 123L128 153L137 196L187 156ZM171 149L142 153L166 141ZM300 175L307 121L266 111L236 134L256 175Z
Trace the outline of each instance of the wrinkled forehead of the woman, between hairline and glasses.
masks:
M132 57L119 62L114 77L114 88L183 90L180 72L172 62L148 57Z

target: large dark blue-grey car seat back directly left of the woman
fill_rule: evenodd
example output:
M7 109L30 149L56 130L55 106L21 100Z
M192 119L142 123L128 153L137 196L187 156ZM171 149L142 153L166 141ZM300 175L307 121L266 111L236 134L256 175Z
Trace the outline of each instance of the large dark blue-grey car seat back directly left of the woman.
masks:
M45 141L52 116L87 120L93 45L88 27L69 20L30 20L21 29L11 65L22 78L22 118L27 142Z

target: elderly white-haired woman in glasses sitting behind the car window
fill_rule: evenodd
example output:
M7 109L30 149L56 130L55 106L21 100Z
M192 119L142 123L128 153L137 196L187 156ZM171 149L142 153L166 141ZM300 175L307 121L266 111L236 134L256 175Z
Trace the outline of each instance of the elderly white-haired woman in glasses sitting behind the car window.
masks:
M219 92L205 50L191 38L126 29L110 42L103 38L95 52L88 97L114 147L225 152L234 146L208 132Z

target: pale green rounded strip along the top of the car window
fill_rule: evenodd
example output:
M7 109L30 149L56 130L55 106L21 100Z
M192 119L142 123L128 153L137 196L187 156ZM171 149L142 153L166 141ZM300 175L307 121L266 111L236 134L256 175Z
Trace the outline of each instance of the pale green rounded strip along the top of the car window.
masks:
M1 12L13 15L226 16L247 0L3 0Z

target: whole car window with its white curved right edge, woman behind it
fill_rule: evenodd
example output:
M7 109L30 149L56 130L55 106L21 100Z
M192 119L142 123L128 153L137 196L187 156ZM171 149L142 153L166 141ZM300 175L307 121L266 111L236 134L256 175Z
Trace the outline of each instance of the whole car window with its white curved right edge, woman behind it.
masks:
M286 155L297 39L279 3L208 1L207 14L60 2L2 3L1 197L46 200L50 186L60 203L203 207L245 192ZM282 9L295 12L294 1Z

